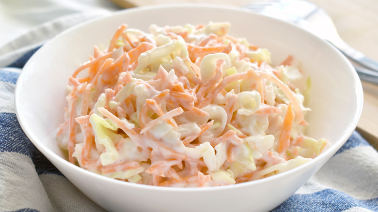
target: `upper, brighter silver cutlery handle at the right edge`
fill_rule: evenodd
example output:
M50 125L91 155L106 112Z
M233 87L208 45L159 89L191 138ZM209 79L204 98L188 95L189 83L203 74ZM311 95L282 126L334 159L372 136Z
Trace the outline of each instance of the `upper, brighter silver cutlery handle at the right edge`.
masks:
M335 45L336 46L336 45ZM378 72L378 61L374 61L366 57L362 52L357 51L350 45L344 43L343 45L337 45L338 48L349 60L355 61L356 63Z

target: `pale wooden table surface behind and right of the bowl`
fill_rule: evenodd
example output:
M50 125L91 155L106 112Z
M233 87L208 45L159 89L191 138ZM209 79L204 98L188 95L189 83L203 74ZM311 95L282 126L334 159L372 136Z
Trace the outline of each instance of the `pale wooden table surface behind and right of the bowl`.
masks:
M243 6L268 0L111 0L121 7L163 3L214 3ZM377 0L308 0L323 8L332 18L340 37L366 56L378 61ZM357 130L378 149L378 85L362 82L363 109Z

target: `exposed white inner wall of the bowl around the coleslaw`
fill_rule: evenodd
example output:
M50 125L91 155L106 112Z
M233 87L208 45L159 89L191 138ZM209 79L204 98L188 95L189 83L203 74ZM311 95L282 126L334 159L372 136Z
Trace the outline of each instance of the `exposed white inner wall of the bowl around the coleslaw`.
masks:
M25 65L16 86L16 112L34 145L48 159L67 163L55 142L63 122L68 77L93 54L94 45L107 46L118 26L148 31L157 24L184 25L228 21L230 34L268 48L273 63L288 55L300 61L311 77L308 135L328 138L333 154L354 130L362 109L361 82L349 62L331 45L295 26L236 8L218 6L159 6L129 9L67 30L41 47ZM321 157L322 155L320 155ZM64 173L63 173L64 174Z

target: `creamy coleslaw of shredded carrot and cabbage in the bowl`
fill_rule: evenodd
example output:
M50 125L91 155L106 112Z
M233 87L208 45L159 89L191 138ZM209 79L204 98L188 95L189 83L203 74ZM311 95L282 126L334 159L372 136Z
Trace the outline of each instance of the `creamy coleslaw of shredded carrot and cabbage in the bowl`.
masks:
M305 81L288 56L228 34L227 22L122 25L68 80L60 148L110 178L203 187L266 178L330 144L305 135ZM309 85L309 79L307 84Z

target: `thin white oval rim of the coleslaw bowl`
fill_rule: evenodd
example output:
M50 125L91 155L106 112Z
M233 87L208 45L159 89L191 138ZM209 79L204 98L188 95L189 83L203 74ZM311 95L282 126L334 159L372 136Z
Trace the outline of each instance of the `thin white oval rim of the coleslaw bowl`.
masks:
M258 179L250 182L242 182L242 183L236 183L232 185L222 185L222 186L210 186L210 187L165 187L165 186L154 186L154 185L145 185L145 184L138 184L138 183L131 183L131 182L123 182L119 180L115 180L106 176L102 176L100 174L96 174L93 172L90 172L84 168L78 167L74 164L69 163L67 160L63 159L60 157L58 154L56 154L54 151L50 150L47 148L45 145L41 143L41 141L38 139L38 137L31 132L29 129L29 126L27 125L26 121L24 120L22 116L22 109L20 108L20 91L22 88L22 85L26 79L26 75L28 70L30 69L31 63L33 62L34 58L36 58L41 52L44 51L47 45L50 45L50 43L55 42L55 40L59 39L61 36L67 33L72 33L72 31L75 31L78 28L81 28L87 24L91 24L97 21L103 21L108 18L113 18L114 16L122 16L124 14L129 14L129 13L140 13L140 12L145 12L149 10L158 10L158 9L167 9L167 8L206 8L206 9L216 9L216 10L230 10L230 11L236 11L236 12L242 12L242 13L249 13L255 16L260 16L265 19L270 19L271 21L276 21L279 22L280 25L286 25L289 26L289 28L297 28L301 31L301 33L307 34L306 36L312 37L312 39L317 39L321 40L325 45L328 45L332 51L334 51L335 54L338 54L339 57L341 57L344 61L344 63L348 66L351 74L353 75L353 80L354 80L354 85L355 87L355 94L357 97L357 102L356 102L356 111L353 116L353 122L348 125L348 127L344 130L344 134L338 138L337 140L332 143L332 145L325 151L323 151L321 154L319 154L317 157L312 159L311 161L300 165L299 167L292 168L290 170L284 171L282 173L269 176L267 178L263 179ZM157 4L157 5L149 5L149 6L141 6L141 7L136 7L136 8L128 8L116 12L110 13L110 15L105 15L101 17L97 17L91 20L84 21L82 23L79 23L73 27L70 27L66 30L63 30L61 33L59 33L57 36L54 38L50 39L47 41L44 45L42 45L32 56L31 58L26 62L24 68L22 69L22 72L18 76L17 82L16 82L16 88L15 88L15 110L16 110L16 117L17 120L26 134L26 136L31 140L33 145L41 151L42 154L44 154L48 160L53 160L51 161L53 164L54 163L61 163L63 166L68 166L70 169L73 169L75 172L81 172L82 174L89 175L94 178L98 178L101 181L106 181L109 183L113 183L114 185L119 185L119 186L131 186L134 188L140 188L140 189L148 189L148 190L158 190L158 191L174 191L174 192L197 192L197 191L213 191L213 190L228 190L228 189L236 189L238 187L244 187L244 186L253 186L255 184L262 184L265 182L269 181L274 181L277 178L282 178L284 176L291 175L292 173L297 172L300 169L305 169L308 166L311 166L312 164L318 163L318 161L322 160L323 157L331 157L337 150L341 148L341 146L347 141L348 137L351 136L353 131L355 130L358 120L361 117L362 114L362 105L363 105L363 92L362 92L362 84L359 79L359 76L357 73L354 71L354 68L350 61L347 60L347 58L339 51L337 50L333 45L330 43L326 42L325 40L317 37L316 35L312 34L311 32L304 30L296 25L293 25L291 23L285 22L283 20L279 20L270 16L262 15L262 14L257 14L249 11L247 8L242 8L242 7L236 7L236 6L229 6L229 5L221 5L221 4L209 4L209 3L165 3L165 4ZM333 153L332 153L333 152ZM54 164L55 166L55 164Z

